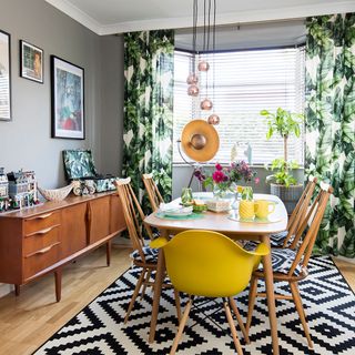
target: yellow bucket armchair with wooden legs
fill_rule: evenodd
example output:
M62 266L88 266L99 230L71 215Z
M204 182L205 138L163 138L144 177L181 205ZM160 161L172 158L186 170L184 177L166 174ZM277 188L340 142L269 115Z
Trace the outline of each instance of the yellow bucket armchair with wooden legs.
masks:
M170 241L161 236L151 245L163 248L166 271L172 284L176 290L189 295L170 354L176 352L194 296L223 298L235 349L239 355L243 354L231 308L246 343L250 341L233 296L247 286L253 270L260 264L261 256L270 253L268 247L261 243L255 251L247 252L221 233L201 230L181 232Z

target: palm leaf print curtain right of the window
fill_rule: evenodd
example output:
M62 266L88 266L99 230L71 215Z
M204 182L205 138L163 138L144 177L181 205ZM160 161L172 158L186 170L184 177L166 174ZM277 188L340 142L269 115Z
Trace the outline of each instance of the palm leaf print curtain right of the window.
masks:
M316 252L355 257L355 13L306 28L306 172L334 187Z

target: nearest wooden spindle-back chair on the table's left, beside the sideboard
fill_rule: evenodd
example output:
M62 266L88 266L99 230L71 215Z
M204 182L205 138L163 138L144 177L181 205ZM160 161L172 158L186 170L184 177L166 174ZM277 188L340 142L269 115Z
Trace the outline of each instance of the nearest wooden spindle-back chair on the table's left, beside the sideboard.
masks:
M129 231L130 240L133 246L133 253L131 254L133 265L138 267L142 267L142 272L135 285L131 302L129 304L124 323L128 322L129 316L133 310L136 297L140 294L140 290L142 288L142 296L144 295L146 286L153 286L154 282L151 281L152 273L156 271L156 262L158 262L158 250L151 248L145 244L145 241L142 235L143 224L145 215L142 211L142 207L133 192L131 186L131 178L120 179L115 182L120 200L122 202L123 216L126 223L126 227ZM144 225L148 232L149 237L152 240L153 234L149 225ZM172 285L163 284L165 287L172 287ZM180 320L180 298L179 293L175 292L175 303L176 303L176 312L178 318Z

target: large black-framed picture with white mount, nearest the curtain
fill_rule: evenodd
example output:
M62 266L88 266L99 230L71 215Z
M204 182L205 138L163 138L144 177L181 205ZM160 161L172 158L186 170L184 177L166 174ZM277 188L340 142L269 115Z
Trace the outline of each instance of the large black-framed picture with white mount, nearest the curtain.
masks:
M51 55L52 138L85 139L84 70Z

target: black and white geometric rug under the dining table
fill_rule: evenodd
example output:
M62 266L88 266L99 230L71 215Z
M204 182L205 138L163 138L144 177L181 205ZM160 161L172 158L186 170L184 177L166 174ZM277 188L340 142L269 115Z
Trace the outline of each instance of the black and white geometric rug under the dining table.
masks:
M152 292L138 298L126 325L125 310L139 273L129 270L54 334L36 355L40 354L169 354L176 332L174 298L163 291L155 343L149 344ZM262 283L260 284L262 290ZM277 292L288 294L285 284ZM282 355L291 354L355 354L355 295L328 257L312 257L310 276L300 283L314 351L306 338L294 304L277 301L278 338ZM236 296L246 318L247 290ZM235 322L236 323L236 322ZM237 328L244 354L272 354L265 300L257 298L250 331L251 344L245 345ZM220 300L197 298L190 314L178 354L235 354L233 339Z

